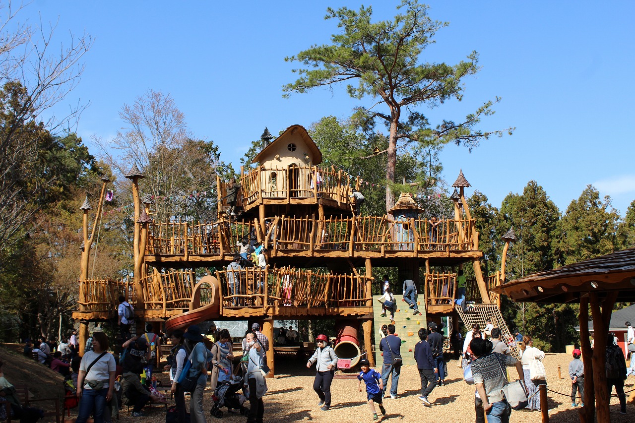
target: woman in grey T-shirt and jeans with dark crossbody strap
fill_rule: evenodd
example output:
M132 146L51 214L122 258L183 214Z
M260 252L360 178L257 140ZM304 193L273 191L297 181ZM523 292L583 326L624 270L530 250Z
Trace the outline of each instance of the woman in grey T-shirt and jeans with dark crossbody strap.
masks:
M79 412L77 423L86 423L93 415L95 423L104 422L106 403L112 399L117 363L107 352L108 338L104 332L93 333L93 351L84 354L77 375Z

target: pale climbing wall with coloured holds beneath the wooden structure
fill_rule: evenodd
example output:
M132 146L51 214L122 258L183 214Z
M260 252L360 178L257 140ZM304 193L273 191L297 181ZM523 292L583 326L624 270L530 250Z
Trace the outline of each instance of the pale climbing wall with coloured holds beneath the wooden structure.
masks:
M381 298L381 295L375 295L373 297L373 312L375 319L373 321L373 331L375 332L375 360L377 361L376 368L379 368L384 357L382 352L379 351L379 342L382 340L380 330L382 325L389 325L391 322L391 316L389 313L386 317L382 317L382 304L377 301ZM425 320L425 304L423 295L418 298L419 311L421 315L413 316L413 309L408 307L408 304L403 301L401 295L395 295L395 301L397 303L398 311L395 313L394 325L396 335L401 338L401 357L403 358L404 365L415 365L414 350L415 344L419 341L419 328L425 328L427 326ZM412 351L410 351L412 350Z

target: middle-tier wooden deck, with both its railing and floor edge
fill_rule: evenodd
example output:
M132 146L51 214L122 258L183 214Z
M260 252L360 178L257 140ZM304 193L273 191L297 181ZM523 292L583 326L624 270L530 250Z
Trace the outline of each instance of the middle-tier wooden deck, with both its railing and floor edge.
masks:
M190 262L210 265L227 262L239 252L237 244L250 234L269 250L276 265L296 264L315 258L448 258L469 260L480 258L478 241L474 239L474 220L444 219L432 226L425 218L389 221L386 216L358 218L290 217L217 222L162 222L151 224L148 231L148 264L182 267ZM298 260L294 261L294 258Z

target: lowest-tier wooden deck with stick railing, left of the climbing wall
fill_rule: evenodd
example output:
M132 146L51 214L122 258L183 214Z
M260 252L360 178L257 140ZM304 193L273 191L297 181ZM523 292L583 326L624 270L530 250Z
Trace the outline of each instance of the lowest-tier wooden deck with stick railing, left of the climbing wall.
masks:
M215 295L222 318L250 316L367 316L372 312L370 284L373 278L350 274L323 274L293 268L250 268L219 271L220 286L197 286L192 271L156 272L142 279L145 307L135 314L145 319L165 319L211 304ZM86 304L73 318L114 318L120 294L128 293L135 304L133 283L89 279L80 281ZM196 290L194 289L195 287ZM218 294L215 290L219 290Z

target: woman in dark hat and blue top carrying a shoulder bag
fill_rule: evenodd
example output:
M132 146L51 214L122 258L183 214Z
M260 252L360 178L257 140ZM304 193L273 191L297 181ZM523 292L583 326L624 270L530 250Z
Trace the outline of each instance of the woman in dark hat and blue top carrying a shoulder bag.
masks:
M175 382L172 384L171 392L177 395L181 391L185 392L185 389L177 381L181 379L186 360L190 361L191 367L185 377L196 377L198 375L196 387L191 393L190 421L193 423L206 423L207 420L203 412L203 391L207 384L207 366L211 361L211 352L203 344L203 335L198 326L190 326L183 336L185 341L183 342L183 348L177 352L177 372L174 375ZM180 413L178 421L185 422L185 416Z

